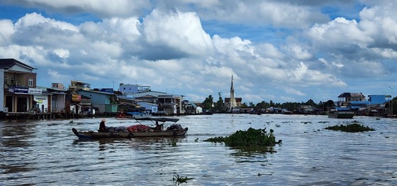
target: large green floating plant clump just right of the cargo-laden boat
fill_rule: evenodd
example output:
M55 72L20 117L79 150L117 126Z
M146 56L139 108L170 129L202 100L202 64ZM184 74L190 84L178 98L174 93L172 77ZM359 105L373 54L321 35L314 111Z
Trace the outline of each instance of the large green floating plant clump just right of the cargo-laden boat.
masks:
M266 128L248 128L247 131L236 131L230 136L208 138L204 141L225 143L226 146L230 147L263 147L281 143L281 140L276 141L273 130L270 129L270 133L267 133Z

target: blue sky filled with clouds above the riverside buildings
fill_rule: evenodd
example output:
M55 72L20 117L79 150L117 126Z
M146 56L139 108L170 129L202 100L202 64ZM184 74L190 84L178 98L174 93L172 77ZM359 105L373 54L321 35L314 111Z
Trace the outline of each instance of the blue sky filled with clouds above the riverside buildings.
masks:
M394 0L0 0L0 58L37 85L242 102L397 94Z

